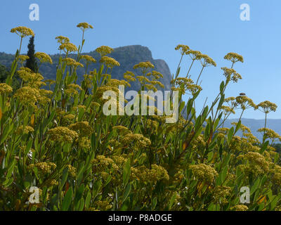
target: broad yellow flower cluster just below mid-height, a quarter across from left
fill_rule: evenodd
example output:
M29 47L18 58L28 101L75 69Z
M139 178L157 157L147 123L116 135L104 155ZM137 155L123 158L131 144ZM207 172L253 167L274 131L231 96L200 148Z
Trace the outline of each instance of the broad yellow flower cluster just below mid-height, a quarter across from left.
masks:
M47 134L50 135L51 141L60 141L60 142L72 142L74 139L78 138L78 134L67 127L55 127L49 129Z

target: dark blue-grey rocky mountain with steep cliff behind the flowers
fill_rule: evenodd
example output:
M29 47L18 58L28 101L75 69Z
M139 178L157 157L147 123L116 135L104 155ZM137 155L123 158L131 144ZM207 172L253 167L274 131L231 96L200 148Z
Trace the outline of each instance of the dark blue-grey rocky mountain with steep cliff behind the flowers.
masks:
M91 51L89 53L84 53L84 54L93 56L93 58L96 58L97 61L100 60L100 56L98 53L96 53L96 51ZM77 57L74 54L70 56L72 58ZM139 71L133 70L133 65L149 60L153 65L155 65L155 68L153 70L157 70L158 72L162 73L163 78L160 79L160 82L164 84L165 90L171 89L171 84L170 84L171 72L169 66L166 64L164 60L153 59L152 53L148 49L148 47L141 46L141 45L123 46L123 47L116 48L108 56L115 58L120 63L119 67L115 67L112 70L113 79L123 79L124 72L126 72L127 70L134 72L136 75L141 75ZM55 79L55 66L58 63L58 54L51 55L51 58L53 60L53 65L44 63L41 65L40 68L40 72L45 79ZM6 67L9 68L12 62L13 62L12 54L0 53L0 64L5 65ZM94 70L95 68L98 70L99 63L93 63L89 65L88 71ZM84 73L85 73L84 68L79 68L77 70L77 75L79 77L78 82L81 82ZM130 89L139 90L140 84L134 82Z

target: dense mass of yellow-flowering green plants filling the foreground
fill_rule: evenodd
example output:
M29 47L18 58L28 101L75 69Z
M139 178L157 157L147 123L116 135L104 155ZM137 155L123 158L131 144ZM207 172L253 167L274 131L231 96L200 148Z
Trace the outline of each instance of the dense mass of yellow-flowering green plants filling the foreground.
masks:
M91 56L81 54L84 33L93 27L77 25L82 31L78 47L58 36L60 51L56 79L45 80L38 71L24 68L20 55L22 39L34 32L27 27L11 30L20 36L11 73L0 84L0 210L280 210L280 155L273 148L281 136L265 126L262 143L241 124L223 127L237 109L254 108L268 115L277 106L269 101L255 104L244 94L225 97L226 87L242 76L234 70L243 63L237 53L224 58L224 80L211 105L197 109L203 69L216 66L200 51L180 44L181 53L171 90L179 91L179 112L186 117L172 124L167 115L104 115L103 93L118 86L140 82L142 90L157 91L162 74L150 62L140 62L123 80L111 79L119 63L110 57L113 49L100 46L99 70L88 71ZM77 53L72 58L70 53ZM35 54L39 63L55 63L46 53ZM190 68L180 76L183 57L191 65L201 63L197 77ZM84 64L83 64L84 63ZM21 65L21 66L20 66ZM81 85L77 68L84 67ZM22 79L13 90L15 72ZM222 76L222 77L223 77ZM193 79L197 79L196 82ZM140 90L141 91L141 90ZM141 104L141 103L140 103ZM122 105L116 105L122 108ZM151 108L148 107L148 108ZM157 111L157 108L153 110ZM242 136L237 136L237 131ZM39 200L30 200L32 187ZM240 202L240 188L249 187L249 203Z

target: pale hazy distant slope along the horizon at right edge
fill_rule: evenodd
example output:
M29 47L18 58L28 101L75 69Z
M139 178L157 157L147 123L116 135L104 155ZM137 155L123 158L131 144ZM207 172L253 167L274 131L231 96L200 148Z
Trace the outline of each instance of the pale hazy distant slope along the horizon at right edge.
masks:
M232 122L237 122L238 119L230 119L226 120L224 127L232 127ZM264 127L264 120L254 120L254 119L244 119L242 118L241 123L244 124L246 127L251 129L252 134L256 136L260 141L263 139L263 136L260 132L257 132L258 129ZM269 129L273 129L277 134L281 135L281 119L268 119L266 122L266 127ZM241 135L242 133L238 133Z

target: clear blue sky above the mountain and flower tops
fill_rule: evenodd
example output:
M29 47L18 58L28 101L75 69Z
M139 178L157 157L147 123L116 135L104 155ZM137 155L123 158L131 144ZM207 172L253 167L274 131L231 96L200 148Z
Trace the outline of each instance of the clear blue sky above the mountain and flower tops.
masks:
M39 5L39 21L30 21L30 4ZM241 4L250 6L249 21L240 20ZM198 108L207 96L210 102L218 94L221 67L230 67L223 56L236 52L244 56L244 63L235 66L243 79L230 84L226 97L244 92L255 103L271 101L279 108L268 117L281 118L280 10L280 0L1 0L0 51L15 53L19 39L9 31L21 25L34 30L36 51L57 53L55 37L67 36L78 46L81 32L76 25L87 22L94 29L86 32L84 51L141 44L174 73L180 58L174 48L186 44L217 63L203 72ZM27 43L28 38L24 46ZM182 76L189 63L188 57L183 59ZM193 79L199 70L191 70ZM263 113L248 110L243 117L262 119Z

